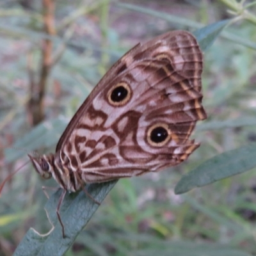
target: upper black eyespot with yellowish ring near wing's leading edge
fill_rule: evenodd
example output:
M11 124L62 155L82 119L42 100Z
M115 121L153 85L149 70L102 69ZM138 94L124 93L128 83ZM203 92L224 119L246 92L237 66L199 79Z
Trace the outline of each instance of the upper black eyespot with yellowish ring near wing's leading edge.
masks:
M118 83L108 92L108 102L113 106L124 106L131 99L131 88L127 83Z

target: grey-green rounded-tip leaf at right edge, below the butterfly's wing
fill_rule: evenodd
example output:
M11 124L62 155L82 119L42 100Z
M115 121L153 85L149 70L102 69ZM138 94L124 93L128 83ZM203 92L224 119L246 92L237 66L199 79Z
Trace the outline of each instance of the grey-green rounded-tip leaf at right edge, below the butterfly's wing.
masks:
M246 172L256 166L256 143L212 157L184 175L175 187L176 194L211 184L216 180Z

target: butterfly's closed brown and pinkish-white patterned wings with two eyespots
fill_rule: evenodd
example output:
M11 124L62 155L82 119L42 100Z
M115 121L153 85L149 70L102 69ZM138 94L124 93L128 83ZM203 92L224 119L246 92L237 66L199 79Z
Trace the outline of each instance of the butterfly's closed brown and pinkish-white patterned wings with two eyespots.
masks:
M188 140L202 107L202 52L173 31L127 52L72 118L56 152L86 182L179 164L199 146Z

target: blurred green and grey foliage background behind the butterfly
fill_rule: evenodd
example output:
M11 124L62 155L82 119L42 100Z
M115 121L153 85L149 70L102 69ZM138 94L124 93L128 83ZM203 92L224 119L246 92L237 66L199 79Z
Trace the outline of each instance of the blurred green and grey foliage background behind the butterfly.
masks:
M173 193L198 164L256 141L255 1L56 0L48 29L47 4L51 16L51 1L0 1L0 181L28 161L26 150L54 151L93 86L132 46L234 17L205 52L209 118L194 134L201 147L169 172L119 180L65 255L256 255L255 170ZM45 77L45 87L36 88ZM23 149L4 150L12 145ZM29 227L51 228L42 186L56 184L28 164L4 187L0 255L12 255Z

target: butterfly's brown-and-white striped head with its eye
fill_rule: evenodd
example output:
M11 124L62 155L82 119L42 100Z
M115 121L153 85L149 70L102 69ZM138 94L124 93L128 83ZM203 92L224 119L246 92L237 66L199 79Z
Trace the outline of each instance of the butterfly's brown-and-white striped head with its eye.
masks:
M44 179L51 179L52 177L52 166L51 166L51 155L42 157L33 157L28 155L36 172Z

